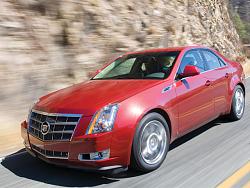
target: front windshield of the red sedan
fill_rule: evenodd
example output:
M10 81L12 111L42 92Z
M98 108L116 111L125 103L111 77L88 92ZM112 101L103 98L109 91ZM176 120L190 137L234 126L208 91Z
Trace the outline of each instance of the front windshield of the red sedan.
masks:
M92 79L164 79L170 75L179 53L174 51L124 56Z

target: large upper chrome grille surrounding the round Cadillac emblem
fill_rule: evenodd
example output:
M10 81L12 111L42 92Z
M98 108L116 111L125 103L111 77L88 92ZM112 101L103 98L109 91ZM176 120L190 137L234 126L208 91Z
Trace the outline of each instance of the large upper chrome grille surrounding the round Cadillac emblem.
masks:
M70 141L80 118L80 114L54 114L32 110L28 132L42 141ZM46 134L42 132L44 122L49 124Z

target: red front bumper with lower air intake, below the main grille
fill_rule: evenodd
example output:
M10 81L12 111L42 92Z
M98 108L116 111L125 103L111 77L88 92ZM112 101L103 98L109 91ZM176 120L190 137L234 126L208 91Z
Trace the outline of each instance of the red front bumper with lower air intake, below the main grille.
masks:
M113 155L111 148L112 133L76 137L68 142L41 141L31 134L28 134L27 123L23 122L21 125L21 134L28 153L47 163L70 168L101 171L127 167L127 164L124 163L121 157ZM107 149L110 150L110 156L107 159L85 160L79 158L81 154L100 152Z

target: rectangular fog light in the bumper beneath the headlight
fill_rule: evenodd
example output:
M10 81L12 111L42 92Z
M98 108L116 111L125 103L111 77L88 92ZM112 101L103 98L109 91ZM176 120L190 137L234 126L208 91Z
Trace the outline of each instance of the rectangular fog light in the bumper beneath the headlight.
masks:
M82 153L79 154L78 159L80 161L89 161L89 160L94 160L94 161L98 161L98 160L104 160L104 159L108 159L110 155L110 150L104 150L104 151L97 151L97 152L93 152L93 153Z

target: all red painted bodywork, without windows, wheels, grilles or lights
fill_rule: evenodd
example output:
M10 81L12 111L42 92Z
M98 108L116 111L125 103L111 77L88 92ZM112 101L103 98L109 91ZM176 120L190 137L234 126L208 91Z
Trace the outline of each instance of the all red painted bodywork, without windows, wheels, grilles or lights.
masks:
M244 84L244 73L240 64L227 60L213 50L227 66L175 80L184 54L200 48L204 47L153 49L125 54L180 51L170 76L164 80L90 80L41 97L34 109L48 113L82 114L82 118L69 142L40 141L27 133L27 123L23 122L21 134L26 147L29 148L31 143L42 149L69 152L68 160L42 157L56 164L96 169L115 165L125 167L130 164L136 127L148 112L157 109L168 115L171 142L219 115L229 113L235 86ZM168 89L165 91L166 88ZM119 104L113 130L86 135L93 115L105 105L113 103ZM110 149L109 159L78 160L80 153L106 149Z

